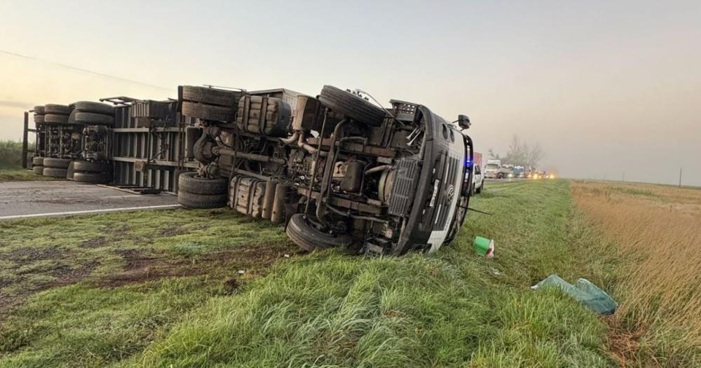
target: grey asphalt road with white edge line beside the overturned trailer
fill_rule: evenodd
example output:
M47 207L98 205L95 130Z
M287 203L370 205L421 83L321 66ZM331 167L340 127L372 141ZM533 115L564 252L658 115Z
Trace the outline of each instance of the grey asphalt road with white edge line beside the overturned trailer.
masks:
M76 182L0 182L0 220L179 207L170 194L132 194Z

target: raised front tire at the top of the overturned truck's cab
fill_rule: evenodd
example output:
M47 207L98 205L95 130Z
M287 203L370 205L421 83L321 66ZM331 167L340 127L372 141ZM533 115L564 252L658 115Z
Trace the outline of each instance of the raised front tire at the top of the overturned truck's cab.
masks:
M319 101L329 109L369 126L380 126L387 111L334 86L324 86Z

